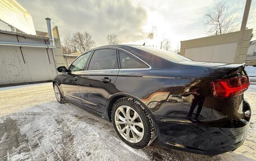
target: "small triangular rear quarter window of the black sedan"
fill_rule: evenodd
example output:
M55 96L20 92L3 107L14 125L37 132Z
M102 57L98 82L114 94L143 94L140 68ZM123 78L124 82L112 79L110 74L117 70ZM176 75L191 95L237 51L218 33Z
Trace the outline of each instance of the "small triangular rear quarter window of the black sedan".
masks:
M122 69L132 69L132 68L148 68L143 62L135 59L134 57L119 51L119 58Z

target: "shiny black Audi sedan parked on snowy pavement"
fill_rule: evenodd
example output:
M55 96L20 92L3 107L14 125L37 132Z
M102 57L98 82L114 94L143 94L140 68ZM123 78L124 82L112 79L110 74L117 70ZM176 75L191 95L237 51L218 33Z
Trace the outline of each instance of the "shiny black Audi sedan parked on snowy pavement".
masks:
M196 62L141 45L98 47L53 80L58 102L111 121L132 148L216 155L243 144L251 117L244 64Z

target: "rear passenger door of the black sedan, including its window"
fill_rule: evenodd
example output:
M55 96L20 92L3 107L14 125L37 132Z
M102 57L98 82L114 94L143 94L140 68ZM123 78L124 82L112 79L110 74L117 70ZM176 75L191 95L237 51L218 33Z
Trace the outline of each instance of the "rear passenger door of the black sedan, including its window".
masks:
M116 49L95 50L88 70L81 73L79 91L85 107L103 113L106 100L118 75Z

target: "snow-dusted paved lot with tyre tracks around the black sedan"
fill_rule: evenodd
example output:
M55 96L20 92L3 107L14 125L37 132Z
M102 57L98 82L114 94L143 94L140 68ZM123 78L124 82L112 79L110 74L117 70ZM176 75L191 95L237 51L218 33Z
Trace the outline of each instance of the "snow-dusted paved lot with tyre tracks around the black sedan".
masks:
M72 104L59 104L52 84L0 88L0 160L256 160L256 85L246 91L253 116L247 139L213 157L122 142L110 122Z

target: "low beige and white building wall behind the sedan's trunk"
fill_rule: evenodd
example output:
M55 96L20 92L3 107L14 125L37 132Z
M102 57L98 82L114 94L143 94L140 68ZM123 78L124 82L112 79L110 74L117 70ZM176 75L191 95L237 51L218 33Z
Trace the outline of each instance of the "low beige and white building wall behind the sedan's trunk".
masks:
M245 63L253 29L245 31L238 63ZM195 61L234 63L240 31L181 41L180 55ZM247 62L246 62L247 63Z

